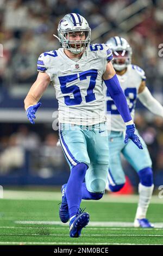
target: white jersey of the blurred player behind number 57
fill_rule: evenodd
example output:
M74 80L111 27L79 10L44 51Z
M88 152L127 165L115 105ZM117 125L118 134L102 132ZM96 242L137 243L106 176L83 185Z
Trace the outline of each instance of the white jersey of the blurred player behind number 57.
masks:
M129 110L132 119L134 120L135 105L138 97L138 91L142 80L146 80L145 71L139 66L130 64L127 66L127 71L122 76L117 75L120 81L121 87L126 95ZM111 121L111 125L108 125L108 130L111 131L125 131L126 124L124 123L120 113L118 112L114 101L111 99L109 92L105 87L105 109L108 114L108 120ZM111 114L111 117L110 117Z

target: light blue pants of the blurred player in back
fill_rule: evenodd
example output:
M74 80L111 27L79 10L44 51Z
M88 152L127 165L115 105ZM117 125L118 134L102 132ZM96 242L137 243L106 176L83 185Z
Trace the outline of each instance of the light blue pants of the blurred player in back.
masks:
M139 133L137 132L137 135ZM139 170L152 167L151 157L147 149L146 143L139 135L140 141L143 145L143 149L140 150L137 146L129 139L127 144L124 144L125 132L111 131L108 135L109 138L109 184L115 186L125 183L125 174L123 172L121 164L121 153L131 166L139 172Z

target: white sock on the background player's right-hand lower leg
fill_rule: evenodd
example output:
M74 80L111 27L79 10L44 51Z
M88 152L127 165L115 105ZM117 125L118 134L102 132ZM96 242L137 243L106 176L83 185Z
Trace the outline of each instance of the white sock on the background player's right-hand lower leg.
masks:
M139 203L136 211L136 218L146 218L148 206L152 197L154 185L151 187L143 186L139 183Z

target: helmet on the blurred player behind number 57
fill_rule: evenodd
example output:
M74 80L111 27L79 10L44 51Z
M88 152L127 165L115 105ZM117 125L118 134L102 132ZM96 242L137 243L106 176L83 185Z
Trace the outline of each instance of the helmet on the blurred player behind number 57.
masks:
M132 49L128 41L120 36L114 36L110 38L106 45L112 50L114 59L112 65L117 71L121 71L127 68L127 65L131 63Z

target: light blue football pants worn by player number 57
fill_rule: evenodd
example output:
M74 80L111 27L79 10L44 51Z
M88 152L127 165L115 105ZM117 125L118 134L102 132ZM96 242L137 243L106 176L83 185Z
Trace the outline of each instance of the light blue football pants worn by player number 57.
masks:
M109 168L106 124L59 126L60 144L70 168L78 163L86 163L89 167L85 175L87 190L102 193L105 190Z

